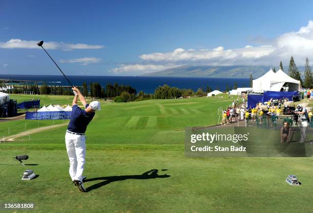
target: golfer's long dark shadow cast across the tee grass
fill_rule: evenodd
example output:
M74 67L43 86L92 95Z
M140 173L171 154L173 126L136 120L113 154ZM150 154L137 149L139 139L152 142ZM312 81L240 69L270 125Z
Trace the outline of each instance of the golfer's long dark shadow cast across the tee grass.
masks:
M161 171L167 171L167 169L162 169ZM158 169L151 169L148 172L143 173L142 175L122 175L122 176L109 176L109 177L100 177L100 178L91 178L91 179L86 179L84 182L90 182L90 181L95 181L95 180L104 180L100 183L94 184L92 186L89 186L86 188L86 191L91 191L93 189L100 188L101 186L105 186L111 182L115 181L122 181L122 180L127 180L127 179L153 179L153 178L168 178L171 177L170 175L158 175L159 170Z

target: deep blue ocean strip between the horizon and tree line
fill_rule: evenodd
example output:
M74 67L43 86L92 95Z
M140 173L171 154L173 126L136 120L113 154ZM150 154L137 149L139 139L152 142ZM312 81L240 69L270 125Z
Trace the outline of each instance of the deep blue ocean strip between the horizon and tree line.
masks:
M249 87L249 78L187 78L187 77L146 77L146 76L66 76L74 86L82 86L83 82L87 86L92 82L99 82L102 87L107 83L129 85L139 91L145 93L154 93L155 88L167 84L170 87L180 89L192 89L197 91L198 88L207 90L207 86L213 90L226 90L226 87L234 87L234 82L238 87ZM37 81L38 84L47 82L50 86L70 86L68 81L62 75L0 75L0 79L11 80L30 80ZM11 84L11 83L9 83ZM26 84L33 84L28 82Z

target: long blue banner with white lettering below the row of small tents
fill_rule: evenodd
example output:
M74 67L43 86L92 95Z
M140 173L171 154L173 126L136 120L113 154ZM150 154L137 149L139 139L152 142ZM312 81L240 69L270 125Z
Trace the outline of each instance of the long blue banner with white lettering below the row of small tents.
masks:
M71 119L72 112L55 111L55 112L26 112L27 120L62 120Z

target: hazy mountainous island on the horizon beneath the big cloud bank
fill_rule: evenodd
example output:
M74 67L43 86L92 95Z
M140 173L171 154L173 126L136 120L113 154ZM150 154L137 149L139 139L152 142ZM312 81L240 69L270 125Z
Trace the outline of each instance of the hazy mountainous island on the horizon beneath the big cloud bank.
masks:
M299 67L300 70L302 67ZM270 66L181 66L143 76L158 77L210 77L210 78L249 78L256 79L271 69ZM274 68L272 68L274 69ZM277 67L276 71L279 70ZM285 70L287 73L287 71Z

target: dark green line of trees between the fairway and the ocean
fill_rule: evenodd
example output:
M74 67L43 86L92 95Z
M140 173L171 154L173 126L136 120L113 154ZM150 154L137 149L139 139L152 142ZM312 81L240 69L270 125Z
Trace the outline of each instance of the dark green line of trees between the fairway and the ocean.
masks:
M86 82L83 82L82 87L78 87L84 96L92 98L104 98L113 99L116 102L129 102L139 101L147 99L172 99L188 96L206 96L207 93L212 92L212 88L207 86L206 91L203 88L197 89L194 92L192 89L179 89L177 87L170 87L167 84L159 86L155 89L154 94L147 94L140 91L137 94L135 88L130 86L119 85L117 82L114 84L107 83L105 87L102 87L99 82L90 83L89 87ZM226 86L226 91L231 90L232 87ZM237 89L237 83L234 83L234 89ZM216 90L220 90L219 86ZM68 86L48 86L44 82L41 86L38 84L34 85L23 85L15 86L13 94L41 94L41 95L73 95L71 87Z

